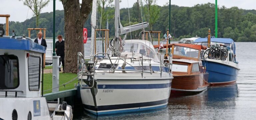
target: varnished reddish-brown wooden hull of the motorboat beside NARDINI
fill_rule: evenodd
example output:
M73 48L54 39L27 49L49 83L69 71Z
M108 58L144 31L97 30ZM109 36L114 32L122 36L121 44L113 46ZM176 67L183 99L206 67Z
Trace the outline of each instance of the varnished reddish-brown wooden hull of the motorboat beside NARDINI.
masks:
M171 94L201 92L207 89L208 73L173 75Z

